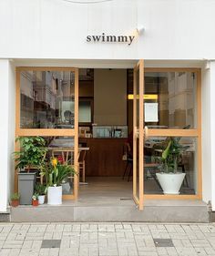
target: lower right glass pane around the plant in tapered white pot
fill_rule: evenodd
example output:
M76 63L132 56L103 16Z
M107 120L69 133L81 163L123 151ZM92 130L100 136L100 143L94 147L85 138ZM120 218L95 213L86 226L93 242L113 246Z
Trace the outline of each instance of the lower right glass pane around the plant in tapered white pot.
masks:
M145 141L144 189L146 194L163 194L156 173L165 171L162 153L168 147L169 137L150 137ZM183 150L178 158L178 172L185 173L180 194L193 195L198 192L197 139L181 137ZM148 165L150 163L150 165Z

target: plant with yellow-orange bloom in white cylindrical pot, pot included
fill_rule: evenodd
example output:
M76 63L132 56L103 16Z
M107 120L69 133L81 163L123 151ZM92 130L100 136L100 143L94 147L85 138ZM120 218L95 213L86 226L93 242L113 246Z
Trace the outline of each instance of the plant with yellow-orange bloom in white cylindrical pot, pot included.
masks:
M51 159L44 165L41 175L46 178L47 204L62 204L62 183L68 175L73 174L76 174L75 169L57 159Z

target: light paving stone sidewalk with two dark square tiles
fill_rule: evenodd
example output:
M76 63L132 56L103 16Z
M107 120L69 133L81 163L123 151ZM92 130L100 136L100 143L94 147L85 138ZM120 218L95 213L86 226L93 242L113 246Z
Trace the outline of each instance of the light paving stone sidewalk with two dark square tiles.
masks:
M0 223L7 255L215 256L215 223Z

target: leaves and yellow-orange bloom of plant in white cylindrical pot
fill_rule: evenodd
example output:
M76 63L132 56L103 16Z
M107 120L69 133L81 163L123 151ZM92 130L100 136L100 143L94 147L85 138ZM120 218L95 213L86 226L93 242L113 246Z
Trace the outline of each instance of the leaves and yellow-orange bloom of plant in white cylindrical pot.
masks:
M57 159L51 159L51 161L44 164L40 174L45 176L46 188L48 188L60 186L68 175L75 175L76 171L70 165L61 164Z

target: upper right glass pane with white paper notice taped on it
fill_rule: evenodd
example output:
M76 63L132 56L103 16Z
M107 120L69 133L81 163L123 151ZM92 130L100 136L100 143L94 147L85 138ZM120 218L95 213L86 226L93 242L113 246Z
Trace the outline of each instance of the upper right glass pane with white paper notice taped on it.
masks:
M196 88L194 72L145 73L145 126L197 128Z

